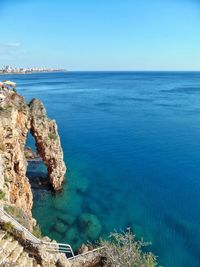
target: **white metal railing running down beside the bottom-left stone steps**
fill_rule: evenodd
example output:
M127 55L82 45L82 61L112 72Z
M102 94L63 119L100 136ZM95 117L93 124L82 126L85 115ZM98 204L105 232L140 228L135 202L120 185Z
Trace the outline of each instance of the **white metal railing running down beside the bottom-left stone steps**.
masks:
M0 207L0 213L3 216L0 216L1 219L4 217L4 221L11 222L15 229L20 232L23 232L26 239L28 239L33 246L44 246L45 250L48 252L59 252L59 253L66 253L70 254L71 257L74 257L74 252L72 247L69 244L62 244L57 242L45 242L38 239L34 236L28 229L26 229L23 225L21 225L18 221L16 221L10 214L8 214L3 208Z

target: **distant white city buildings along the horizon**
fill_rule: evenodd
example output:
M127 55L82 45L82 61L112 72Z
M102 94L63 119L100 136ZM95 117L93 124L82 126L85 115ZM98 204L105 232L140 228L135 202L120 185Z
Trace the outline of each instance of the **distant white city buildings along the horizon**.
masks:
M64 69L53 69L53 68L13 68L9 65L0 69L0 74L26 74L36 72L63 72Z

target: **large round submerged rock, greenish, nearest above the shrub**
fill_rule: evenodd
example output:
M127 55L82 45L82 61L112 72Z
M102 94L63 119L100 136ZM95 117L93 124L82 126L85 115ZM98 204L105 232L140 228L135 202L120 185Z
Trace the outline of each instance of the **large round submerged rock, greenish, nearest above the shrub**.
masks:
M96 240L102 231L102 225L99 219L91 213L83 213L79 217L79 225L84 234L90 240Z

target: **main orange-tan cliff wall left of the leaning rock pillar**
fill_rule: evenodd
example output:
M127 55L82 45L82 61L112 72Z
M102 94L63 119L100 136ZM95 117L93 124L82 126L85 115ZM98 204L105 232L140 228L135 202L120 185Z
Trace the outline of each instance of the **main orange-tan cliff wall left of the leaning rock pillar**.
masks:
M11 204L31 217L32 192L26 177L24 146L29 130L29 107L18 94L5 91L6 101L0 107L1 187Z

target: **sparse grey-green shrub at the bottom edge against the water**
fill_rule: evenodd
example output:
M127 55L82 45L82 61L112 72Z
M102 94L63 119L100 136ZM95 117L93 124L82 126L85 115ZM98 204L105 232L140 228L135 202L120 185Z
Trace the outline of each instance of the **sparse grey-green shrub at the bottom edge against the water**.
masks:
M101 240L104 248L100 254L105 259L104 266L109 267L155 267L158 266L156 256L151 252L143 252L149 245L142 240L136 241L130 228L126 232L111 233L108 241Z

